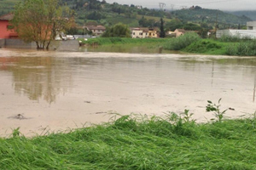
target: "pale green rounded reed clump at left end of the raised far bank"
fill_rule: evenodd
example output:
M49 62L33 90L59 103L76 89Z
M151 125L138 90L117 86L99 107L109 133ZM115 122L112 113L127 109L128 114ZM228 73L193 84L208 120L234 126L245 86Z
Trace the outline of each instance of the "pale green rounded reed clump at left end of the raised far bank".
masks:
M200 37L196 33L185 33L183 36L170 39L164 44L163 48L169 50L181 50L188 47L191 43L197 42L199 40Z

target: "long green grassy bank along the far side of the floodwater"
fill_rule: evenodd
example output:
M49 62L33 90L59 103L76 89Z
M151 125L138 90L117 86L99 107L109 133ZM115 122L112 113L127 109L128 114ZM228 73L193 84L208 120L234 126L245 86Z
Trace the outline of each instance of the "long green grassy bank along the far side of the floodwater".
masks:
M225 36L220 39L202 39L195 33L188 33L177 38L121 38L121 37L97 37L81 39L81 46L108 47L109 45L129 45L130 48L147 46L162 50L177 51L185 54L212 54L232 56L255 56L256 41L250 38ZM177 53L176 52L176 53ZM166 53L166 52L165 52ZM167 52L168 53L168 52Z

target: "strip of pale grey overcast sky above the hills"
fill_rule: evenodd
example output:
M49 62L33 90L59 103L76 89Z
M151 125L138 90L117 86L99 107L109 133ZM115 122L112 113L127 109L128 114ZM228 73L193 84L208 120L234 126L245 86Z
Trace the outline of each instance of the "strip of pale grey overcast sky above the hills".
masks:
M198 5L202 8L212 8L219 10L256 10L256 0L106 0L107 3L142 5L143 8L159 8L159 3L166 3L165 8L180 9Z

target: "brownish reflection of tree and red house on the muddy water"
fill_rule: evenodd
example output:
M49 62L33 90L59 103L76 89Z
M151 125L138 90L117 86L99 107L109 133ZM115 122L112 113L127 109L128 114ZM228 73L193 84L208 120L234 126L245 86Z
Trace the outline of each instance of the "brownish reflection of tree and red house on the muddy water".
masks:
M65 71L69 63L50 56L2 57L0 65L0 71L12 72L15 93L25 94L32 100L42 98L52 103L56 95L65 94L72 84L71 72Z

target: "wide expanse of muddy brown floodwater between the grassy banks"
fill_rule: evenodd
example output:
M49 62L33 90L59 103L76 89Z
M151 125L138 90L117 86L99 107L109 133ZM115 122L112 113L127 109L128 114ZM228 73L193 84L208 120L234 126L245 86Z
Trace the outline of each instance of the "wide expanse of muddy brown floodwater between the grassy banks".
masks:
M109 113L212 118L256 110L256 58L0 49L0 135L27 136L108 122Z

